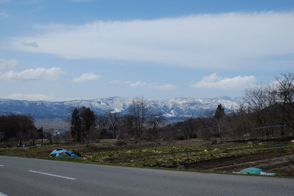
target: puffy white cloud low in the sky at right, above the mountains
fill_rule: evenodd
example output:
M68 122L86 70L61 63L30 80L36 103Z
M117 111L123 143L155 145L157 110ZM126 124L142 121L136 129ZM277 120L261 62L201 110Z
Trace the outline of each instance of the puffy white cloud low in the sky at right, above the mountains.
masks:
M194 88L221 88L221 89L232 89L242 88L247 85L254 83L255 77L253 75L241 77L236 76L233 78L221 78L216 73L205 76L203 79L195 84L191 84Z

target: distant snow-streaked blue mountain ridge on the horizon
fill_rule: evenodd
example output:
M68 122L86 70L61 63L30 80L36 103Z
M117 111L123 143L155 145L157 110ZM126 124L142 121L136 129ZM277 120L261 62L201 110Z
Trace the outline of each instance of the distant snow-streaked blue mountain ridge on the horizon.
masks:
M89 100L71 101L27 101L0 98L0 115L25 114L35 119L65 119L71 114L71 107L86 106L96 114L104 114L108 111L127 113L132 98L98 98ZM192 114L201 116L207 110L215 110L219 104L225 112L238 110L242 105L242 98L218 97L218 98L171 98L160 101L147 100L153 112L160 112L168 119L184 119Z

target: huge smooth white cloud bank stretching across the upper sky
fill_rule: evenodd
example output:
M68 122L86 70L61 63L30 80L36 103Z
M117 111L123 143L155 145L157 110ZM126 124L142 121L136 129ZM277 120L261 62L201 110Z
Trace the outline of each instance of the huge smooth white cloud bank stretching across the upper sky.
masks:
M39 36L14 37L11 45L17 50L65 58L151 61L210 69L246 68L248 63L270 56L294 54L293 24L294 12L96 21L75 26L43 26ZM42 33L44 30L47 33ZM39 47L27 47L24 42ZM291 68L290 63L287 66Z

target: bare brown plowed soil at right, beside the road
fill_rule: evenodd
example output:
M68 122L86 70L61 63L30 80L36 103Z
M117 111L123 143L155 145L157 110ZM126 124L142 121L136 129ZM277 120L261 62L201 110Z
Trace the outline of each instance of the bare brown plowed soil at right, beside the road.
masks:
M277 144L294 145L294 143L291 143L291 140L293 140L293 138L261 141L268 143L269 146ZM235 141L232 144L245 145L248 142L250 141ZM260 142L260 140L252 140L251 142L256 143ZM211 146L209 144L204 145L207 147ZM283 147L270 147L251 154L229 156L186 164L185 167L189 169L211 172L229 172L241 171L245 168L260 168L265 172L273 172L279 176L294 177L294 150L293 148L289 149Z

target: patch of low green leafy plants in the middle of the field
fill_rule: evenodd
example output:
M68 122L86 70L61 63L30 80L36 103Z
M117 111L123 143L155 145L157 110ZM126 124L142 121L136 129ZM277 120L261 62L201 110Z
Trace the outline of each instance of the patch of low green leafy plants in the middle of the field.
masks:
M256 145L231 147L148 147L129 150L98 151L87 157L92 163L115 163L128 166L177 168L179 165L190 165L203 160L239 156L255 153L263 148L246 149ZM259 145L260 146L260 145Z

